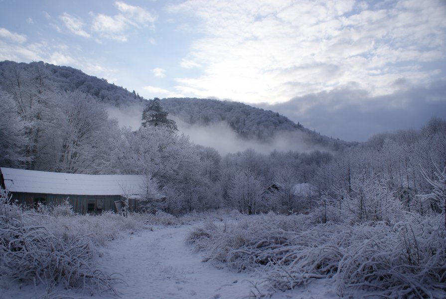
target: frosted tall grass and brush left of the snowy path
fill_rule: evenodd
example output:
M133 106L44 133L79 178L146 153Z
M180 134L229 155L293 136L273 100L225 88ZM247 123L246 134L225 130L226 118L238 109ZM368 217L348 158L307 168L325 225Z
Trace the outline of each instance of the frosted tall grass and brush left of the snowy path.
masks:
M184 219L156 214L79 215L68 202L27 209L0 189L0 277L9 282L115 292L120 280L96 266L101 247L126 232ZM187 220L186 220L187 221Z

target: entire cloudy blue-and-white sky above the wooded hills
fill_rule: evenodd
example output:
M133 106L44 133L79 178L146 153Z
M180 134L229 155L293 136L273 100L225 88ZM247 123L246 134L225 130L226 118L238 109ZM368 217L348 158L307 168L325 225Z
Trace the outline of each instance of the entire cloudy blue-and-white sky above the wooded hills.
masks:
M0 60L366 140L446 118L444 0L0 0Z

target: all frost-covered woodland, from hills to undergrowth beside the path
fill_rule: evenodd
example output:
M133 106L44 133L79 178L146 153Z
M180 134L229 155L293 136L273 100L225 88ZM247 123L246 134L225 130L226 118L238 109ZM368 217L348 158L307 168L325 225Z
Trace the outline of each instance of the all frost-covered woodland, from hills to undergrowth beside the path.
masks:
M2 190L3 278L111 292L114 278L94 266L97 246L129 227L225 210L233 221L222 217L222 226L209 218L187 243L219 268L262 273L254 298L319 279L332 279L335 294L347 298L446 296L445 120L346 143L271 111L216 100L146 101L43 62L0 63L0 88L0 166L146 175L146 208L158 211L82 216L68 204L31 211ZM120 128L108 116L110 105L141 107L141 127ZM179 133L169 112L190 124L225 121L240 138L263 142L299 131L315 150L221 155ZM98 225L106 229L88 232Z

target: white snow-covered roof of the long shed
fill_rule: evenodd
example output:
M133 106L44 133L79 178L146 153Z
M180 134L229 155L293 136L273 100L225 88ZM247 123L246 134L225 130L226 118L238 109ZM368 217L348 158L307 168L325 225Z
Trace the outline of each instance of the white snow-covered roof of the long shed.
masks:
M92 175L23 170L1 167L5 188L10 192L67 195L138 194L144 175Z

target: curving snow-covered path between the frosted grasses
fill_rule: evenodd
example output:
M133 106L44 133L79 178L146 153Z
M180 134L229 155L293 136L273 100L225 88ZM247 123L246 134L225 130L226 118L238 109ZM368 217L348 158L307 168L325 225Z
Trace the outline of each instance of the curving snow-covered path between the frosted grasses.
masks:
M100 259L107 273L120 273L122 298L132 299L237 299L250 294L247 274L219 270L202 263L201 256L184 243L194 226L155 226L130 238L111 242ZM258 280L258 279L257 279ZM107 296L108 298L108 296ZM112 298L112 297L110 297Z

